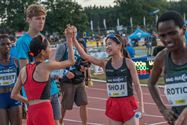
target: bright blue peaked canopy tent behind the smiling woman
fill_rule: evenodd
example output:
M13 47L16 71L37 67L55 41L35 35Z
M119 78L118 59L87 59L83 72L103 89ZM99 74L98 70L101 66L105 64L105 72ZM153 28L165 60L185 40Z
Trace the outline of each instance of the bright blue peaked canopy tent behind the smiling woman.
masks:
M140 39L145 37L151 37L151 34L141 30L140 28L137 28L135 32L129 36L130 39Z

